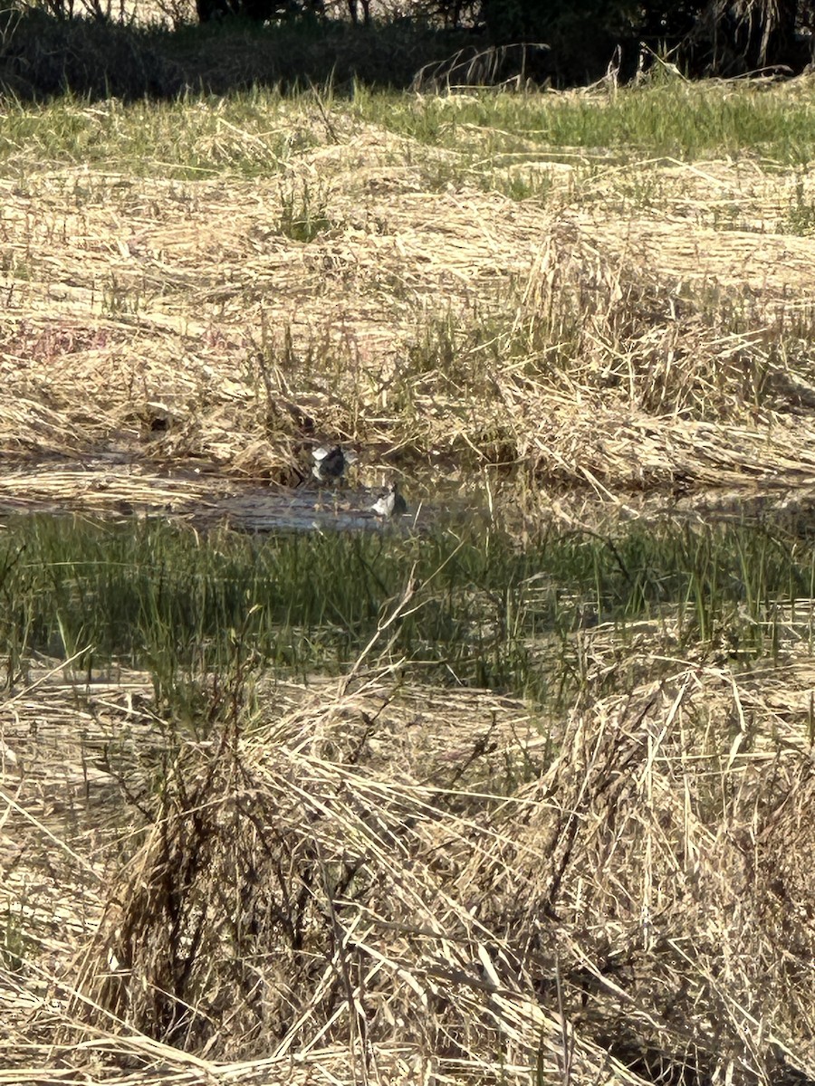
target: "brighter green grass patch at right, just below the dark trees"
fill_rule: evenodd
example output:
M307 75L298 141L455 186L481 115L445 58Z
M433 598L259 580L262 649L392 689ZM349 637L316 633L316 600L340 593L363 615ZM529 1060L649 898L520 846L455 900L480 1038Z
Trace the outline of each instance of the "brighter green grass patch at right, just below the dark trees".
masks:
M462 152L469 147L473 156L535 150L574 162L579 150L587 164L602 165L743 154L799 166L815 152L815 94L791 98L749 84L725 90L677 79L607 98L489 90L408 98L359 89L354 112L423 143Z

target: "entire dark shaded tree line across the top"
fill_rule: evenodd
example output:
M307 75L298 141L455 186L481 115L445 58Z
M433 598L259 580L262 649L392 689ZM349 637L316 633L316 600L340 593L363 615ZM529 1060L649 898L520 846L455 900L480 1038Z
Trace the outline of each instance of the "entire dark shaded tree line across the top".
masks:
M195 0L210 25L192 34L189 0L158 2L179 13L174 28L117 18L125 0L10 0L0 91L129 100L308 80L565 87L610 68L625 81L655 58L691 77L813 62L815 0ZM229 34L233 16L280 25L234 23Z

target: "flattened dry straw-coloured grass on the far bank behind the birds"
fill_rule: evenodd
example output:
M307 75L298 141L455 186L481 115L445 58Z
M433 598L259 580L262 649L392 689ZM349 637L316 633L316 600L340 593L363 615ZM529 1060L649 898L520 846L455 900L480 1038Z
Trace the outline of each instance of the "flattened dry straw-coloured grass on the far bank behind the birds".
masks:
M808 181L581 154L518 203L468 184L481 136L465 163L301 103L265 139L208 129L216 179L3 182L7 462L103 451L286 482L338 437L375 464L390 446L557 485L808 483L812 247L782 232ZM247 155L276 176L230 175Z

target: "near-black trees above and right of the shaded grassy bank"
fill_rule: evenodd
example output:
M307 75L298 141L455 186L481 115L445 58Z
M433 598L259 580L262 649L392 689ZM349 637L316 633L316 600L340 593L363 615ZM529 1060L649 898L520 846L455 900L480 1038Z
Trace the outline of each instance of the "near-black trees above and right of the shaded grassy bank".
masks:
M197 0L197 7L202 22L306 15L367 26L377 15L376 0L373 7L372 0L344 0L330 10L325 0ZM467 28L492 45L546 43L566 81L597 74L615 53L624 79L651 53L690 75L801 71L812 61L815 25L815 0L403 0L399 12L409 21Z

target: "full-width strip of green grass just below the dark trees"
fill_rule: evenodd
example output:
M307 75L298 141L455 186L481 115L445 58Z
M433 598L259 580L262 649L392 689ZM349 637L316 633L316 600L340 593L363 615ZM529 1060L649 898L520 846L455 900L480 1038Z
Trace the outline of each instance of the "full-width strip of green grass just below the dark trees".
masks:
M579 184L597 180L604 166L644 160L747 155L805 167L815 152L815 94L782 97L747 85L725 93L714 85L677 81L606 99L489 90L405 96L356 84L350 98L326 86L321 100L331 139L351 135L354 122L379 125L455 152L449 163L427 162L431 188L451 179L480 180L514 199L547 199L551 179L496 172L541 157L575 165ZM315 124L319 116L310 89L283 93L260 84L225 96L187 89L165 101L92 103L72 93L36 105L7 100L0 163L26 169L82 163L183 179L265 176L326 138L322 123ZM808 227L808 207L801 205Z

